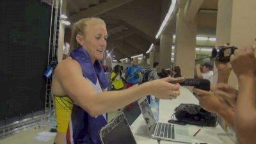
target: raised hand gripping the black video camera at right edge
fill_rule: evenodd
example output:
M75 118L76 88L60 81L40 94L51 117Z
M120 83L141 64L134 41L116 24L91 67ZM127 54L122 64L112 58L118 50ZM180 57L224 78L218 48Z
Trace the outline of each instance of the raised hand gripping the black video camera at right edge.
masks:
M237 49L232 56L230 56L232 68L239 77L255 77L256 72L256 58L254 56L253 47L244 47Z

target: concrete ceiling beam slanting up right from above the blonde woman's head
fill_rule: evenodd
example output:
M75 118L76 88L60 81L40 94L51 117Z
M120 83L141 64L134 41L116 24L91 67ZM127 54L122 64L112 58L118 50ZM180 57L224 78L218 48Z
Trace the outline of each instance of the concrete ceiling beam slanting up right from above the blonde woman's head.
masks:
M71 15L70 21L76 22L77 20L83 19L86 17L95 17L97 15L106 13L109 10L113 10L114 8L122 6L123 4L129 3L131 1L133 0L108 0L105 3L100 3L97 6L93 6L92 8L89 8L88 10L82 10L79 13Z

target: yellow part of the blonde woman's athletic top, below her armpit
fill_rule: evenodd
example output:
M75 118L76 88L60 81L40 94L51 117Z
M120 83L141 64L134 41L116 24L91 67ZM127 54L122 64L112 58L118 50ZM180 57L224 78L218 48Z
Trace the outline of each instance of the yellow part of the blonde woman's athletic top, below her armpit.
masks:
M54 96L57 132L67 132L73 103L74 102L67 96Z

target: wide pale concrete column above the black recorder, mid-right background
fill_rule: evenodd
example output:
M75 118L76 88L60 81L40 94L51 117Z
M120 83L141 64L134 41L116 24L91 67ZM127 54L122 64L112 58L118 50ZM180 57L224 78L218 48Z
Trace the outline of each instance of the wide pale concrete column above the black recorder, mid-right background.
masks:
M174 64L187 78L193 78L195 73L196 25L195 21L184 20L184 9L180 8L176 20Z

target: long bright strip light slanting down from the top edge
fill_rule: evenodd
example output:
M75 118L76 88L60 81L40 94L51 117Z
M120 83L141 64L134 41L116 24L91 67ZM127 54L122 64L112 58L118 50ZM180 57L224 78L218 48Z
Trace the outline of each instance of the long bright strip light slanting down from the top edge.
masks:
M163 29L165 28L166 24L168 24L168 21L171 19L173 11L175 9L175 5L176 5L177 0L172 0L172 4L168 10L168 13L166 13L164 20L161 24L161 27L159 28L157 34L156 34L156 39L159 38L159 35L161 35L161 33L163 32Z

